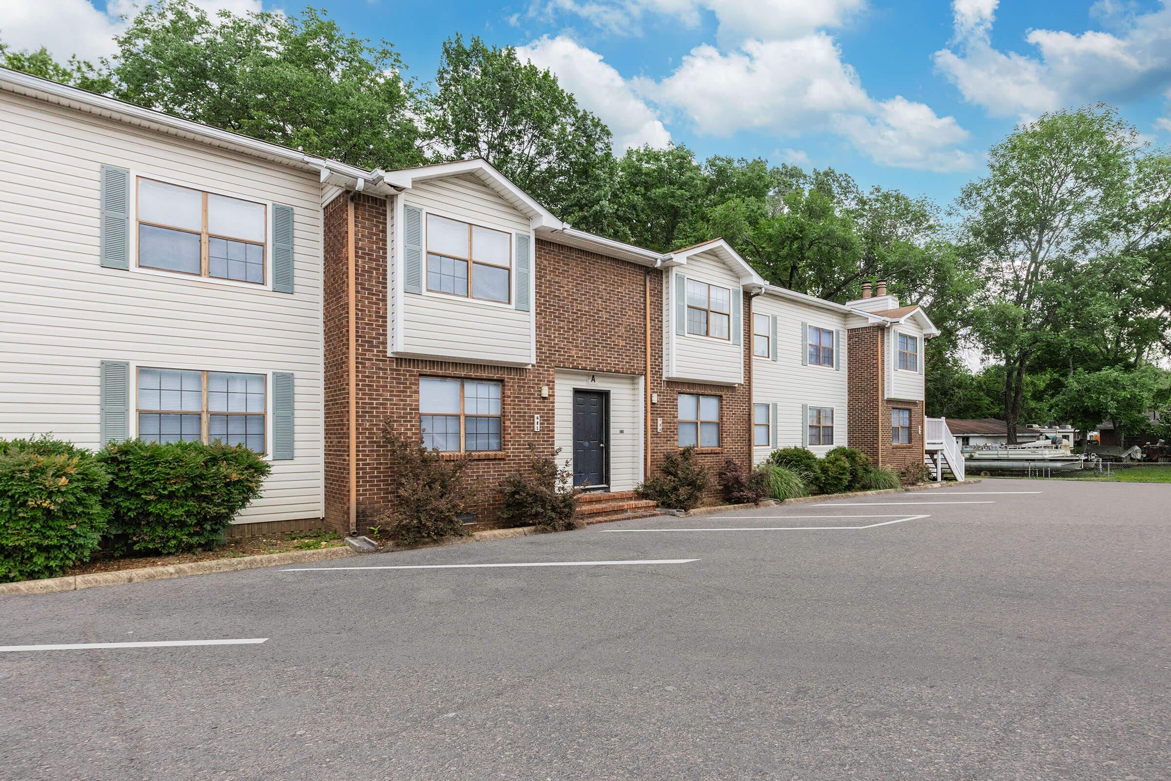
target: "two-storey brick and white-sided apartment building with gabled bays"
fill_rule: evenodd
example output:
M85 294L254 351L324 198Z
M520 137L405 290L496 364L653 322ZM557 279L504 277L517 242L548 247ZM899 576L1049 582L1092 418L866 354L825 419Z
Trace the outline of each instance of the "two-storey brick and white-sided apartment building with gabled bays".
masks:
M0 437L253 447L241 530L364 533L388 431L468 461L478 522L530 447L618 498L689 445L924 459L922 308L578 231L484 160L364 171L0 70Z

